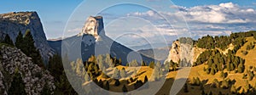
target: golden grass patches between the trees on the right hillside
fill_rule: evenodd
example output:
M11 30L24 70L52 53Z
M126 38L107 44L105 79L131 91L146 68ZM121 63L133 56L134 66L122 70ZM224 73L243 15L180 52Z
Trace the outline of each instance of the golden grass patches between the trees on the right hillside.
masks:
M243 55L241 53L241 50L246 50L247 45L250 42L256 42L253 37L248 37L247 38L247 43L245 43L245 45L243 47L241 47L241 49L239 49L236 53L236 56L241 57L242 59L246 59L245 62L245 70L249 69L249 66L256 66L256 48L253 48L252 50L248 51L247 55ZM232 49L233 47L230 46L229 49ZM222 51L223 53L225 53L227 50ZM198 52L198 51L197 51ZM189 80L192 79L193 77L199 77L201 81L206 81L205 85L204 85L204 91L206 93L212 92L213 95L218 94L218 92L222 92L224 94L229 93L230 94L230 88L229 89L223 89L223 88L213 88L210 87L210 84L212 83L212 81L214 79L217 79L218 81L223 81L224 79L230 79L232 80L236 80L236 87L244 87L246 84L247 79L242 79L243 73L235 73L234 71L227 71L224 70L224 72L228 72L228 76L226 78L221 78L220 77L220 72L216 73L215 75L208 75L205 71L203 71L203 68L207 67L206 64L201 64L195 67L192 67L189 73ZM121 70L122 68L125 68L126 72L132 72L134 69L137 69L137 75L133 75L133 79L137 79L137 80L141 80L144 81L144 77L145 75L148 76L148 80L150 79L150 76L152 75L153 69L149 68L148 66L142 66L141 68L134 68L134 67L127 67L127 66L117 66L117 68L119 70ZM109 71L111 72L111 71ZM246 71L244 72L246 73ZM163 85L163 87L161 87L160 91L157 92L157 95L164 95L164 94L169 94L171 87L172 87L172 83L173 83L173 79L175 79L177 75L177 71L171 71L166 75L166 82ZM127 77L129 78L129 77ZM109 79L104 79L101 76L98 77L98 80L102 79L102 80L109 80ZM254 87L255 85L255 81L256 78L254 77L252 81L249 81L249 83ZM133 82L134 83L134 82ZM128 91L133 90L133 83L130 84L126 84L126 81L121 81L121 85L119 87L115 87L113 86L113 81L110 83L110 91L113 92L121 92L122 91L122 87L123 85L125 85L128 88ZM198 95L201 94L201 90L200 87L195 87L195 86L191 86L188 84L188 88L189 88L189 92L183 92L183 89L178 92L179 95Z

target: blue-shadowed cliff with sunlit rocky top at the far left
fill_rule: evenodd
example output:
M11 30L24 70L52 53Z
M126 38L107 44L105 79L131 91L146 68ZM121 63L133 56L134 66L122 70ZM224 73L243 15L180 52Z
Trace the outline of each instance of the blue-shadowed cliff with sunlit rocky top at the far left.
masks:
M39 49L44 61L48 60L49 56L54 54L54 51L49 47L43 25L36 12L0 14L0 38L4 38L8 34L15 42L19 31L25 34L27 29L32 32L35 46Z

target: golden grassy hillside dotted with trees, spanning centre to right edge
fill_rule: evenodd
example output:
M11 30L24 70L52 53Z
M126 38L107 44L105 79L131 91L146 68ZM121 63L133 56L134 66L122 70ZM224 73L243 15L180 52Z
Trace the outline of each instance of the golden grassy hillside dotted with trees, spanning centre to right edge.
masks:
M183 61L181 63L175 63L166 61L166 64L155 63L152 65L150 63L148 66L134 66L136 62L131 62L129 66L117 65L115 66L118 70L113 67L108 67L111 63L101 64L101 57L91 57L87 62L84 63L85 70L90 68L95 68L94 66L98 65L98 70L88 70L87 73L92 73L90 77L92 81L83 81L83 86L86 87L91 82L96 82L96 84L104 89L107 89L112 92L124 92L123 86L131 94L136 94L137 86L141 88L141 92L149 92L148 88L152 89L154 83L163 83L162 87L159 87L160 90L155 93L157 95L169 94L172 84L177 77L177 72L187 68L182 64L193 64L191 65L191 70L189 72L188 80L186 82L186 87L183 87L181 91L177 94L179 95L191 95L191 94L201 94L202 92L208 94L255 94L254 89L256 78L254 78L256 66L254 62L256 61L256 48L251 47L254 45L256 40L253 38L254 31L249 31L245 33L235 33L231 36L223 37L231 39L231 42L223 42L221 44L214 43L214 47L205 47L201 48L198 46L202 41L195 41L195 45L190 49L196 52L196 57L194 61ZM236 37L233 37L233 36ZM209 36L207 38L210 38ZM213 37L214 38L214 37ZM216 39L215 39L216 38ZM215 37L214 40L220 42L218 37ZM232 40L233 39L233 40ZM244 39L244 40L242 40ZM177 42L173 42L177 47ZM185 43L186 44L186 43ZM224 46L226 44L226 46ZM186 45L184 45L186 46ZM183 47L184 47L183 46ZM196 49L195 49L196 48ZM173 49L173 48L172 48ZM171 49L171 51L172 51ZM180 50L177 49L177 52ZM174 50L174 49L173 49ZM247 53L241 52L247 51ZM189 53L185 51L185 53ZM208 55L209 54L209 55ZM103 57L105 58L105 57ZM98 60L100 59L100 60ZM206 59L201 61L201 59ZM222 59L223 62L222 62ZM97 61L96 61L97 60ZM103 59L106 60L106 59ZM188 63L186 63L188 62ZM193 63L189 63L193 62ZM77 63L77 62L75 62ZM103 61L104 63L104 61ZM168 65L170 64L170 65ZM212 65L221 65L220 67L213 67ZM75 66L71 64L72 67ZM103 66L102 66L103 65ZM104 66L105 65L105 66ZM107 65L107 66L106 66ZM153 66L153 67L152 67ZM185 66L185 67L184 67ZM168 68L166 68L168 67ZM219 70L220 69L220 70ZM168 72L165 72L169 70ZM207 72L209 70L209 72ZM119 73L118 73L119 72ZM123 75L122 72L126 73L126 78L120 76ZM136 72L136 73L135 73ZM118 79L115 79L117 74ZM120 75L120 76L118 76ZM148 77L148 82L145 81L145 76ZM85 75L85 77L87 77ZM96 79L95 79L96 78ZM86 78L85 78L86 79ZM164 80L163 80L164 79ZM178 79L176 79L178 80ZM119 84L117 85L117 81ZM162 82L163 81L163 82ZM109 84L108 84L108 83ZM108 85L107 85L107 84ZM144 87L149 83L149 87ZM151 85L150 85L151 84ZM106 88L106 86L108 86ZM143 87L141 87L143 86ZM135 92L130 92L135 91Z

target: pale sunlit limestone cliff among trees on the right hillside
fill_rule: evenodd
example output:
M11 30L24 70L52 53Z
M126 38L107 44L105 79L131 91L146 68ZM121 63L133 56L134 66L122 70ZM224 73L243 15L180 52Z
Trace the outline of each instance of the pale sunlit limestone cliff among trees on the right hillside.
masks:
M196 48L191 44L174 41L172 42L172 47L166 61L169 62L172 60L175 63L179 63L185 60L186 63L193 64L203 51L205 50Z

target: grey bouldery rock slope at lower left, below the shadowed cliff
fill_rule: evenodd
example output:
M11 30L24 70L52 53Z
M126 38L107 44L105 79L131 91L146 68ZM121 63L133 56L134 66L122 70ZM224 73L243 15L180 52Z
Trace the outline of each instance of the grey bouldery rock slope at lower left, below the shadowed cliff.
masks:
M0 94L7 94L15 70L19 70L22 81L25 83L25 91L28 95L37 95L47 86L50 92L55 89L54 77L48 70L43 70L37 64L33 64L31 58L17 48L0 47ZM4 82L3 82L4 81Z

